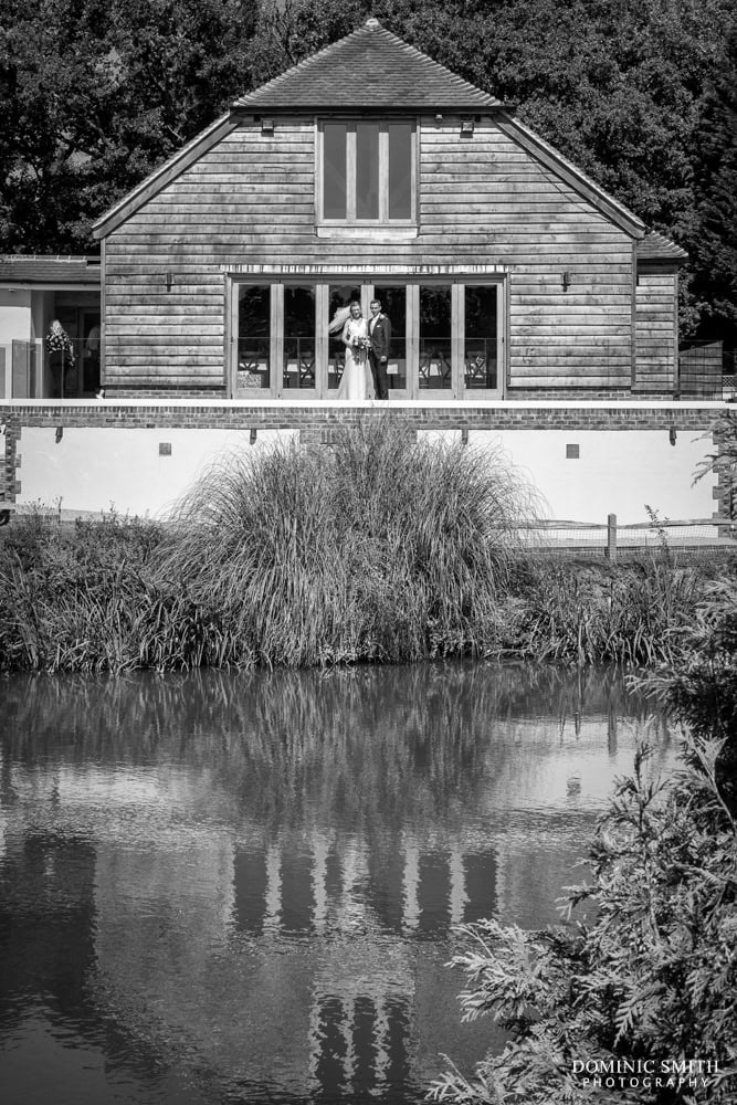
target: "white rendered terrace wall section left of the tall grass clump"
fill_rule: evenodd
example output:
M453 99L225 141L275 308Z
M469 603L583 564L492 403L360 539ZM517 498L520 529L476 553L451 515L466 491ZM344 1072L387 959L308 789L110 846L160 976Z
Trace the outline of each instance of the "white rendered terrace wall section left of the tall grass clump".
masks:
M17 507L42 505L81 514L165 517L199 473L233 451L288 442L296 430L24 428L18 446ZM171 453L161 455L160 445Z

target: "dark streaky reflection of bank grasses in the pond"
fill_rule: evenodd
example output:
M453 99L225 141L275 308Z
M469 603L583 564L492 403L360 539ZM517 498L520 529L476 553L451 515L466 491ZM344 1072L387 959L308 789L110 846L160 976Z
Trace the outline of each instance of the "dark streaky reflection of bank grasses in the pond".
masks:
M525 745L510 738L515 718L539 716L540 732L555 719L556 733L567 719L575 739L581 714L641 708L613 672L486 663L25 675L6 683L1 705L12 761L130 764L162 778L182 762L213 815L232 801L277 830L340 810L379 836L408 817L415 827L442 818L461 828L509 756L525 759Z

